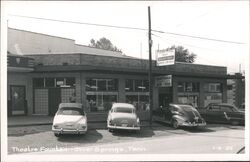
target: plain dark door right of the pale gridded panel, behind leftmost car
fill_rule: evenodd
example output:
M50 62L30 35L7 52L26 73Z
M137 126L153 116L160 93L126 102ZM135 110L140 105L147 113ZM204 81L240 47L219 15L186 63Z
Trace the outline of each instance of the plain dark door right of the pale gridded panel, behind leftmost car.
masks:
M49 89L49 115L50 116L55 115L60 103L61 103L61 89L50 88Z

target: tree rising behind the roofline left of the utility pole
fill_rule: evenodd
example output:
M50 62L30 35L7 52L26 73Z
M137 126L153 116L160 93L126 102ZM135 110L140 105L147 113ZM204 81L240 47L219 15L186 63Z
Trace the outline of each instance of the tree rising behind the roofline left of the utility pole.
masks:
M100 38L98 41L95 41L94 39L90 40L90 47L105 49L105 50L111 50L111 51L117 51L122 52L121 49L118 49L116 46L114 46L111 41L105 37Z

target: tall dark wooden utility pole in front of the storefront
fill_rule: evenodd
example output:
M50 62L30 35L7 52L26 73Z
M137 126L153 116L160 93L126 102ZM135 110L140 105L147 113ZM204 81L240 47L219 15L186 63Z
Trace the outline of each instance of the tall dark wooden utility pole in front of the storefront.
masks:
M152 39L151 39L151 14L150 6L148 6L148 46L149 46L149 124L152 127L153 112L153 80L152 80Z

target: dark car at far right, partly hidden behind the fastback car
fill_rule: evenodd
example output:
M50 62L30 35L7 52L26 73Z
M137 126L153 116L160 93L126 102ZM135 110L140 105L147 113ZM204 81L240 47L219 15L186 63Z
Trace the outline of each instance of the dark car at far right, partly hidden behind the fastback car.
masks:
M206 122L244 125L245 113L227 103L211 103L204 109L198 109Z

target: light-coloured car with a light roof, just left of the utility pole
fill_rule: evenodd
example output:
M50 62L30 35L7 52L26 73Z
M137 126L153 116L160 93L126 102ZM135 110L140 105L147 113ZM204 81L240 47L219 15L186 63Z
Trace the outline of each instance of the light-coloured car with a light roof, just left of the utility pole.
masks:
M136 115L134 105L114 103L108 114L107 128L109 131L114 129L140 130L140 120Z

